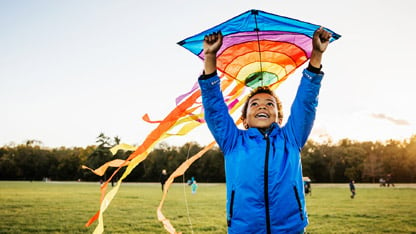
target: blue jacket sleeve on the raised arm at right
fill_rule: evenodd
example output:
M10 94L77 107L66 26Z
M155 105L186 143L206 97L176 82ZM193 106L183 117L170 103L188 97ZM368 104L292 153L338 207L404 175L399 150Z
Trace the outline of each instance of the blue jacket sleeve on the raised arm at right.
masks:
M323 73L316 74L305 69L295 99L290 109L290 116L285 125L286 136L299 151L308 140L315 120L318 95Z

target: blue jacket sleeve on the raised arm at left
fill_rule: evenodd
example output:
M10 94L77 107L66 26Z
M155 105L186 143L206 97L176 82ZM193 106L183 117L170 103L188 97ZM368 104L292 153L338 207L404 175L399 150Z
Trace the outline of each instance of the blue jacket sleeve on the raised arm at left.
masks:
M226 153L228 152L238 134L238 128L228 112L221 92L220 79L217 75L208 79L198 80L202 94L204 118L215 141Z

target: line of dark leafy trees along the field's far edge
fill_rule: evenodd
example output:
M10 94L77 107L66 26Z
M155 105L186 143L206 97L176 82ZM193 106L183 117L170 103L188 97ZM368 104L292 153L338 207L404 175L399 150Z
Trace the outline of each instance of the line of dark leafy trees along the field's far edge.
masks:
M114 172L107 170L102 177L82 165L98 168L112 159L126 159L132 152L119 150L112 155L110 148L120 143L118 137L104 134L97 137L96 145L82 147L45 148L38 141L0 148L0 180L60 180L100 181ZM203 146L189 142L182 146L161 143L149 153L124 180L127 182L158 182L166 169L172 173L187 158L199 152ZM343 139L336 143L317 143L309 140L302 150L303 174L313 182L344 183L348 180L378 183L380 178L391 175L394 182L416 182L416 135L405 140L386 142L358 142ZM124 169L115 176L122 175ZM224 182L222 152L214 147L197 160L175 181L195 177L198 182Z

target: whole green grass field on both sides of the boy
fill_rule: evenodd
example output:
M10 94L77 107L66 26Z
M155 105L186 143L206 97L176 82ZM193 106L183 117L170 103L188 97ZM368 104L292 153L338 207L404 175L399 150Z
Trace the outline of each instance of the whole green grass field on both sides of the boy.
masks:
M110 187L111 188L111 187ZM394 188L313 184L307 196L308 233L416 233L416 185ZM104 213L105 233L166 233L157 221L159 184L126 183ZM92 233L86 221L99 208L98 183L0 182L0 233ZM225 185L174 184L164 214L183 233L226 233Z

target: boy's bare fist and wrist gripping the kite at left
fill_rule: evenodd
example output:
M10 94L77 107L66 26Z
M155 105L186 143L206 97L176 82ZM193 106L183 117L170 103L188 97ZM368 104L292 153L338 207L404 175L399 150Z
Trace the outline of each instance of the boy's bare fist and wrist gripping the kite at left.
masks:
M221 32L208 34L204 38L204 73L212 74L217 70L217 52L222 46Z

